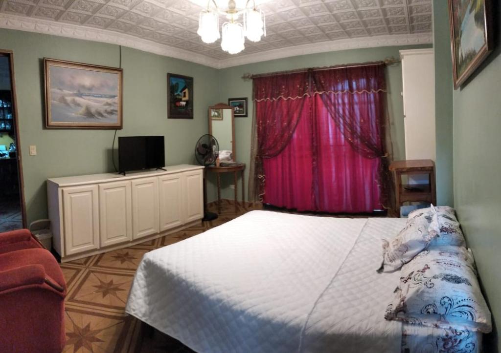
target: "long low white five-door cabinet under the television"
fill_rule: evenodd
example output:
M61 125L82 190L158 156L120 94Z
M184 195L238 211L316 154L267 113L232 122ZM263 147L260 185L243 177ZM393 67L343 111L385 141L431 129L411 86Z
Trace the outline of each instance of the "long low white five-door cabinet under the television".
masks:
M61 261L154 239L203 218L203 167L47 180L54 249Z

